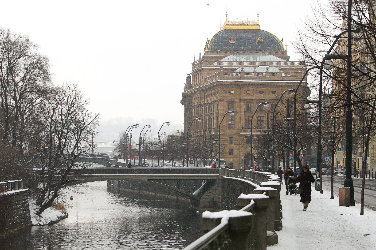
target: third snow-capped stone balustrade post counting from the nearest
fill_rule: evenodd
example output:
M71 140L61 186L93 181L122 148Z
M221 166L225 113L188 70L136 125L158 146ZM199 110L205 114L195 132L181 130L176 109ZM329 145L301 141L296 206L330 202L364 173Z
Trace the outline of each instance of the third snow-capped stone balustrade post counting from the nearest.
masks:
M266 193L266 195L269 197L269 206L266 210L266 230L267 230L267 244L268 246L273 246L274 244L278 244L278 235L275 232L274 229L274 208L277 198L277 189L273 189L271 187L259 187L257 189L253 190L253 193Z

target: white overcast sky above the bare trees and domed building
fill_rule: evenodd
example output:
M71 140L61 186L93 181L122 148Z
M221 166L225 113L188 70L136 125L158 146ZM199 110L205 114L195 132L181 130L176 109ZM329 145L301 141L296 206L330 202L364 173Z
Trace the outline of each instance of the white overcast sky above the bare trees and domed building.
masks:
M326 3L327 0L321 1ZM209 3L209 5L207 5ZM170 121L183 127L180 104L193 55L228 19L256 19L288 45L316 0L1 1L0 25L26 34L52 63L53 79L77 83L102 123ZM126 125L126 124L125 124ZM129 124L130 125L130 124Z

